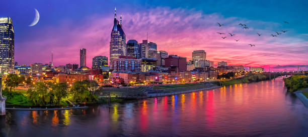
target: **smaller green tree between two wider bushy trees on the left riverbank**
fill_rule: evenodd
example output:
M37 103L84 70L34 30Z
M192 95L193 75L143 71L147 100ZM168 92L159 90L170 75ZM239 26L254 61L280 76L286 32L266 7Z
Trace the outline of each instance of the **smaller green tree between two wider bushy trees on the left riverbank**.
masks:
M67 97L68 86L66 83L57 83L51 86L52 99L55 104L60 104L62 98Z

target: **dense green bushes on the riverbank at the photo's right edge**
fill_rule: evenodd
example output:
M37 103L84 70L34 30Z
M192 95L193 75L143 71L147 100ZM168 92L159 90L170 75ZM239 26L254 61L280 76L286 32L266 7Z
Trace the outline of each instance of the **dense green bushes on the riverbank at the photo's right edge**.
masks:
M308 76L293 75L284 79L284 85L287 87L288 92L295 92L297 90L308 88Z

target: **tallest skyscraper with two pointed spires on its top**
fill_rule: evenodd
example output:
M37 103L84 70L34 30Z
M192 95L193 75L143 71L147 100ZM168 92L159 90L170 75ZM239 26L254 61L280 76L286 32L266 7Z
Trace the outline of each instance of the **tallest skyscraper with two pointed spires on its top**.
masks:
M126 38L122 29L122 16L120 22L117 20L116 9L114 9L113 28L110 35L110 68L112 67L112 60L119 58L119 56L126 56Z

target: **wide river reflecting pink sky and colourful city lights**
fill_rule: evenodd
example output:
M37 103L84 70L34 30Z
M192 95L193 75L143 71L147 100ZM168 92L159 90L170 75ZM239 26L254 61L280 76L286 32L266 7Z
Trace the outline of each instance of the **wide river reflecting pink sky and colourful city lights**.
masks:
M0 136L308 136L282 78L80 110L13 111Z

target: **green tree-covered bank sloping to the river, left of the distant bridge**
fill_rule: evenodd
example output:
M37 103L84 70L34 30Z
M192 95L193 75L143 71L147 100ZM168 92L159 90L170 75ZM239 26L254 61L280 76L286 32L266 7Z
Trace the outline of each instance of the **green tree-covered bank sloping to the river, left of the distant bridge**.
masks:
M275 75L275 77L280 75ZM274 78L274 75L271 75L271 78ZM238 79L230 79L225 81L215 81L213 84L220 85L221 86L227 86L227 85L234 85L234 84L241 84L241 83L252 83L252 82L259 82L263 80L269 80L270 75L269 74L262 74L262 73L249 73L244 77L238 78Z

